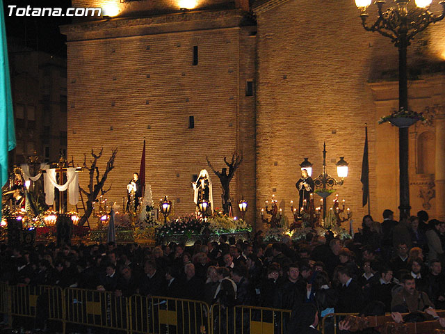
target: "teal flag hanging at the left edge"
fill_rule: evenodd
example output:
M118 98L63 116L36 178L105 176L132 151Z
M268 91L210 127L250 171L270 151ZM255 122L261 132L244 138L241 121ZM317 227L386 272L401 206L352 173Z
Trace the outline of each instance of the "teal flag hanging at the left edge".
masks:
M4 186L9 177L8 152L15 148L15 131L3 0L0 0L0 47L0 185Z

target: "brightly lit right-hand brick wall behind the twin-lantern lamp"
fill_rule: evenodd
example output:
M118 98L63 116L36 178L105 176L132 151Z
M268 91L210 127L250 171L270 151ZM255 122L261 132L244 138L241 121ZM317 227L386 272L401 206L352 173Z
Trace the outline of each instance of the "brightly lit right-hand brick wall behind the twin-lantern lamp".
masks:
M379 221L383 209L397 211L396 164L391 165L391 170L380 168L380 175L376 168L385 164L385 160L377 159L380 148L389 148L385 157L388 161L398 161L398 136L394 129L385 128L386 140L376 137L378 118L367 85L370 80L382 79L382 73L397 70L397 49L389 38L366 32L358 14L354 2L346 0L325 1L317 6L308 0L283 1L275 8L258 11L259 207L264 205L264 200L270 200L276 189L275 198L291 217L289 202L298 198L295 183L300 175L299 164L304 157L309 157L314 164L313 177L321 173L325 141L327 173L337 176L334 162L339 156L344 156L349 163L345 183L334 188L354 212L357 228L362 216L367 214L367 207L362 208L360 182L367 123L371 214ZM373 15L371 11L371 19ZM444 24L441 22L429 29L431 32L418 36L423 46L414 42L409 50L410 63L425 61L426 57L434 59L432 54L436 54L437 59L440 48L432 45L443 42ZM387 105L385 110L386 114L390 113L391 106ZM391 175L392 183L380 188L380 198L385 198L385 202L377 203L377 180L386 173Z

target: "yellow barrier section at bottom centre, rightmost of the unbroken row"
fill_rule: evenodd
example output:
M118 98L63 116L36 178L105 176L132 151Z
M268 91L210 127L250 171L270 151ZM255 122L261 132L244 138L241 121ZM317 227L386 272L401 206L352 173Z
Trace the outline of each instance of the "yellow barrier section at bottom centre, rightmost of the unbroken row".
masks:
M237 305L225 308L211 305L213 334L283 334L291 319L291 310Z

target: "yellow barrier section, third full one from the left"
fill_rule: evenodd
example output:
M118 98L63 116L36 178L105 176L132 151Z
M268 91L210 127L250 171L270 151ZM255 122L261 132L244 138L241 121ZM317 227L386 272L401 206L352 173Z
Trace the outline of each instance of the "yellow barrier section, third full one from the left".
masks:
M140 295L129 301L131 333L210 333L209 306L202 301Z

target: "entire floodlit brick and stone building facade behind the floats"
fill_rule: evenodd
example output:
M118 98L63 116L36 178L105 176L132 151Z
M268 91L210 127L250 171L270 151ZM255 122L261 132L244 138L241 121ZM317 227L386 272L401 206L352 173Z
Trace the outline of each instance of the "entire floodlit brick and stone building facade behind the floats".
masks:
M244 196L248 220L255 216L261 227L259 210L272 194L291 217L299 164L309 157L313 176L321 173L325 142L328 173L336 176L340 156L349 163L336 189L357 228L368 211L360 182L367 125L371 214L381 220L383 209L397 212L398 132L377 125L398 105L397 50L364 31L353 1L261 1L252 7L256 20L243 1L197 1L189 10L179 1L106 2L118 7L116 17L61 31L68 41L68 155L80 164L91 148L103 146L106 155L118 147L109 200L122 202L144 139L147 183L154 199L170 196L175 214L193 212L191 181L207 168L206 156L220 170L223 157L242 151L231 197L235 204ZM439 22L419 34L408 56L410 106L436 113L430 125L410 129L412 212L437 218L445 218L444 31ZM220 207L219 181L211 177Z

